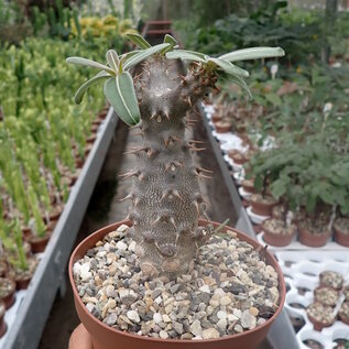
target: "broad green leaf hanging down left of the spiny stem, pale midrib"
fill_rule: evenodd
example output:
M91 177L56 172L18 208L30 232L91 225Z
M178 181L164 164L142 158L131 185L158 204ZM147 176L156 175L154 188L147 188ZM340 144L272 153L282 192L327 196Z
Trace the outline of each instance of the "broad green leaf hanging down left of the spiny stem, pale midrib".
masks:
M110 78L105 84L105 95L117 114L129 126L139 123L141 119L133 80L129 72Z

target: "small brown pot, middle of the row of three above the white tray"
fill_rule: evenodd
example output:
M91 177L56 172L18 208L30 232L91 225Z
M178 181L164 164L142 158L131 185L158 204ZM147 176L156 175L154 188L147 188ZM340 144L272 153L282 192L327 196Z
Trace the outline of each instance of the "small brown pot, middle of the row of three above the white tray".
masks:
M323 220L304 218L298 221L299 242L314 248L326 244L331 232Z

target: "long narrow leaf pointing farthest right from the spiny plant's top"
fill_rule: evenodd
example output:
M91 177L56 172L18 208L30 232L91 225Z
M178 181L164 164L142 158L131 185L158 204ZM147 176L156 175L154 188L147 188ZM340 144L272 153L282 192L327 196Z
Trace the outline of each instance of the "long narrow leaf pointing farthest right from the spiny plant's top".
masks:
M219 56L218 58L228 62L236 62L268 57L281 57L284 55L285 52L281 47L250 47L226 53L225 55Z

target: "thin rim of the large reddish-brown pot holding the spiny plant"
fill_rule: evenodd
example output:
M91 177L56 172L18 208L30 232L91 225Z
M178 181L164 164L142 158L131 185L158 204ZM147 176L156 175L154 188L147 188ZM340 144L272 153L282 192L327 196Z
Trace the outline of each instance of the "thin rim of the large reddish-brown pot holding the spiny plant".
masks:
M210 220L204 220L204 219L199 219L199 225L208 225L212 221ZM101 232L101 230L106 230L106 235L108 232L111 232L113 231L113 229L117 229L117 227L121 226L121 225L127 225L129 227L131 227L131 221L129 220L121 220L121 221L118 221L118 222L114 222L114 223L111 223L109 226L106 226L106 227L102 227L100 229L98 229L97 231L92 232L91 235L89 235L87 238L85 238L73 251L72 255L70 255L70 259L69 259L69 270L68 270L68 273L69 273L69 281L70 281L70 285L72 285L72 288L73 288L73 293L74 293L74 298L75 298L75 302L78 302L80 307L84 309L84 312L88 315L88 317L90 319L92 319L94 324L96 326L101 326L102 328L105 328L106 330L108 331L111 331L111 332L114 332L114 334L118 334L120 336L127 336L129 338L133 338L133 339L142 339L142 340L146 340L149 342L163 342L163 343L193 343L193 340L192 339L163 339L163 338L154 338L154 337L148 337L148 336L140 336L140 335L132 335L128 331L122 331L122 330L119 330L119 329L116 329L116 328L112 328L106 324L103 324L101 320L99 320L97 317L95 317L94 315L91 315L84 302L81 301L80 296L78 295L78 292L77 292L77 288L76 288L76 284L75 284L75 281L74 281L74 276L73 276L73 266L74 266L74 263L80 258L78 255L76 255L77 251L80 249L80 247L83 244L85 244L86 240L90 239L92 236L97 236L98 233ZM239 235L243 236L243 241L247 241L248 243L252 244L253 248L255 249L257 247L261 246L258 241L255 241L253 238L247 236L246 233L243 232L240 232L239 230L235 229L235 228L231 228L231 227L227 227L229 228L229 230L232 230L235 232L238 232ZM283 309L283 306L284 306L284 303L285 303L285 297L286 297L286 285L285 285L285 281L283 279L283 273L282 273L282 270L276 261L276 259L274 258L274 255L266 251L265 252L268 253L269 255L269 259L271 261L273 261L274 263L274 269L277 273L277 281L279 281L279 291L280 291L280 296L279 296L279 307L276 309L276 312L273 314L272 317L270 317L264 324L260 325L260 326L257 326L254 327L253 329L249 329L249 330L246 330L241 334L235 334L235 335L229 335L229 336L225 336L225 337L220 337L220 338L215 338L215 339L200 339L200 340L197 340L197 342L214 342L214 341L225 341L225 340L231 340L231 337L235 337L235 338L240 338L242 336L247 336L247 335L252 335L253 332L255 332L257 330L260 330L261 328L265 327L265 326L269 326L272 321L274 321L274 319L279 316L279 314L281 313L281 310ZM269 263L270 265L271 263Z

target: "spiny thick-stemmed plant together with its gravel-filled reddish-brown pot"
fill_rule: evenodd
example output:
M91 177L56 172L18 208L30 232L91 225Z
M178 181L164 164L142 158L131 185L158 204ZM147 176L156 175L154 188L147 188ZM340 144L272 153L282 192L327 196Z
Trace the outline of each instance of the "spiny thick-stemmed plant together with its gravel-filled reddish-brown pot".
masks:
M107 100L143 139L129 151L138 165L124 175L133 179L124 198L132 203L128 220L95 232L70 258L78 315L96 349L212 348L216 342L254 348L281 310L284 283L269 252L263 252L266 264L261 260L258 243L226 223L200 219L206 204L198 179L210 171L193 164L192 153L200 149L185 139L185 117L219 75L246 86L247 72L231 62L283 51L249 48L212 58L178 50L170 35L156 46L140 35L130 39L140 50L121 56L108 51L107 65L67 59L101 70L75 100L106 79ZM190 62L186 72L178 58ZM254 260L250 271L258 277L250 277L247 260L243 270L240 253Z

